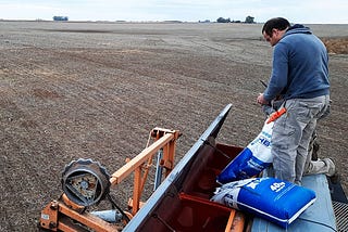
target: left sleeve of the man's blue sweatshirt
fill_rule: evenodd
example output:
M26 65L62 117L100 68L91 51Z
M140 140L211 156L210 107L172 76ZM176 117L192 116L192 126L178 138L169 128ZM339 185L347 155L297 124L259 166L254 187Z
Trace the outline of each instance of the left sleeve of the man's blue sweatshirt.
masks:
M266 101L275 99L287 86L288 79L288 54L287 48L279 41L273 50L273 66L270 82L263 92Z

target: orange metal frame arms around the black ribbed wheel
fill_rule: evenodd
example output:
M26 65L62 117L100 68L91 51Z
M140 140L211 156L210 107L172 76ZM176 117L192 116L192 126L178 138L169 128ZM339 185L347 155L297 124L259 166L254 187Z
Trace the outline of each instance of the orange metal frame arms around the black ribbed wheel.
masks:
M140 196L154 154L159 150L163 150L163 158L160 165L165 169L165 177L174 168L175 145L176 140L181 136L179 131L154 128L151 130L150 136L154 139L154 142L115 171L110 178L111 185L116 185L134 171L133 199L129 201L132 215L126 212L126 215L129 215L129 218L140 208ZM88 212L84 212L84 207L74 204L63 194L61 199L52 201L41 210L39 227L51 231L79 231L80 228L86 227L95 231L119 231L120 228L116 225L108 223Z

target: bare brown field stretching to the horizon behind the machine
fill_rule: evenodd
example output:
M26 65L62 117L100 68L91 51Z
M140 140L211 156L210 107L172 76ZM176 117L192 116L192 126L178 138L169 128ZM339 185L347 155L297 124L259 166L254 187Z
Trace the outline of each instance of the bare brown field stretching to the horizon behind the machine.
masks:
M245 146L264 115L256 104L271 72L262 25L0 22L0 231L36 231L79 157L110 173L139 154L154 127L181 130L177 160L228 103L217 142ZM310 25L347 41L348 25ZM348 193L347 46L331 51L332 114L320 157ZM346 54L341 54L345 53ZM121 204L130 181L112 189Z

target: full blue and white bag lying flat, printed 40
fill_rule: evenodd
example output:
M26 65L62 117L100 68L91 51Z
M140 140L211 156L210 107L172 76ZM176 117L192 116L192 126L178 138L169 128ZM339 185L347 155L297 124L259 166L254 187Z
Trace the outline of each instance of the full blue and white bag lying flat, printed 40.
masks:
M211 201L287 228L315 202L315 193L275 178L251 178L217 188Z

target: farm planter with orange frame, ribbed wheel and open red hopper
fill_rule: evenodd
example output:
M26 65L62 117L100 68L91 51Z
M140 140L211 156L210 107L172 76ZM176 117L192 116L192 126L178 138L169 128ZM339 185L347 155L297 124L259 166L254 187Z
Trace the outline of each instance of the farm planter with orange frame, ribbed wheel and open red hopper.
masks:
M50 231L285 231L285 229L249 212L211 201L219 183L216 176L244 147L216 143L216 138L232 105L227 105L198 141L174 167L177 130L154 128L153 143L112 175L91 159L69 164L62 173L63 193L47 204L39 227ZM156 191L146 201L140 197L156 164ZM134 176L129 210L119 207L110 188ZM162 175L165 178L162 178ZM263 171L262 176L270 176ZM163 179L163 181L162 181ZM303 178L316 201L286 231L344 231L347 229L347 198L340 185L332 185L324 175ZM331 192L339 192L333 198ZM110 201L110 210L91 210Z

